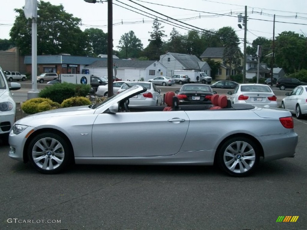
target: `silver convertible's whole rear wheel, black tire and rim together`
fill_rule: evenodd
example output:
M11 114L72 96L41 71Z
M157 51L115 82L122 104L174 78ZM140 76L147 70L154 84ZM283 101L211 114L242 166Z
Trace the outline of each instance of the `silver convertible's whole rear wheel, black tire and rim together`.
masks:
M237 144L244 149L237 149ZM234 151L233 151L234 150ZM247 153L248 154L244 154ZM249 138L238 136L225 141L216 152L217 163L227 174L236 177L243 177L251 174L259 163L259 147Z

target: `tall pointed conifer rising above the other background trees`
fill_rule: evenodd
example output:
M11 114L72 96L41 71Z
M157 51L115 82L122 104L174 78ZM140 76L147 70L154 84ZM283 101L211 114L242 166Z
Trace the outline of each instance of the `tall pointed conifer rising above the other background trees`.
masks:
M159 60L160 55L163 53L162 52L162 37L165 37L166 35L164 34L164 26L161 26L161 23L158 21L156 18L153 21L153 32L148 32L150 33L150 39L148 41L150 42L148 46L144 49L144 54L143 56L147 56L150 60Z

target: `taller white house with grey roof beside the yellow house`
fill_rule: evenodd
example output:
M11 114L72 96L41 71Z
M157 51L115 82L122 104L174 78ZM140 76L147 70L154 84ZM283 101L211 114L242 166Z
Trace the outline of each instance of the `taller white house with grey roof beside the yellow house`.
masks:
M174 70L195 70L205 72L208 76L211 74L208 63L200 61L195 55L166 52L160 56L160 63L167 68L167 77L171 77Z

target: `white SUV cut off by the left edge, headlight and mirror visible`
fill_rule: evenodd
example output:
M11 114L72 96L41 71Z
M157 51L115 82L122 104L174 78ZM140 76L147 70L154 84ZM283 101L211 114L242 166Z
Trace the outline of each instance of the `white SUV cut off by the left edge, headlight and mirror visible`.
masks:
M10 90L19 90L20 84L10 83L9 87L5 76L0 68L0 135L9 135L10 129L15 122L16 103Z

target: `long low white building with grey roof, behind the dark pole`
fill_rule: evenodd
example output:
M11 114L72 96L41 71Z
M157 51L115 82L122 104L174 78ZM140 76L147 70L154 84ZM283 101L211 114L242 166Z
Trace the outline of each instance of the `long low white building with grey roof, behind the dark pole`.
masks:
M147 81L157 76L166 77L166 67L158 61L139 61L127 59L113 59L113 74L124 81ZM116 66L116 71L115 71ZM97 60L86 65L89 74L107 76L107 60Z

